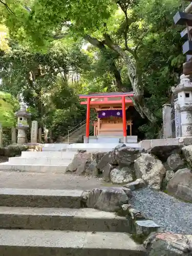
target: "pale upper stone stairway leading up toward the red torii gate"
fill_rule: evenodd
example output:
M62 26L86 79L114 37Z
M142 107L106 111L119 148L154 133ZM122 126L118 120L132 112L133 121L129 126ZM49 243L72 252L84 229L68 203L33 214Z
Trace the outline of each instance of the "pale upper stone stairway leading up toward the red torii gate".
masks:
M128 143L130 147L138 147L138 143ZM65 173L77 150L87 152L109 152L117 143L53 143L44 144L42 152L22 152L20 157L10 157L8 162L0 163L0 170L26 172Z

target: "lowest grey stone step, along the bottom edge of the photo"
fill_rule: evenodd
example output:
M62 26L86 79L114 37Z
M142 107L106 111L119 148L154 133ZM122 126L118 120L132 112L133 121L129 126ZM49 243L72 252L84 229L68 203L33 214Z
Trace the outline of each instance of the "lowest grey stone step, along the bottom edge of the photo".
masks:
M127 233L0 229L3 256L144 256Z

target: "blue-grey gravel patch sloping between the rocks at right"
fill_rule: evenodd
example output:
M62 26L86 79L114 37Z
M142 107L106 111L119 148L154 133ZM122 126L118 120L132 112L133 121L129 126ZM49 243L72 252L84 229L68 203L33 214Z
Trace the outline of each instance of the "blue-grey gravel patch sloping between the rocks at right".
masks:
M192 234L192 204L142 188L133 191L130 204L161 226L162 231Z

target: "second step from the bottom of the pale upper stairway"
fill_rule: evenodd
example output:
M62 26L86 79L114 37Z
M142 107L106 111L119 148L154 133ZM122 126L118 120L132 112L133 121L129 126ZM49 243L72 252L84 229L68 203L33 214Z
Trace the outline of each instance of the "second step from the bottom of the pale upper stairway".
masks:
M73 161L71 159L65 158L55 158L55 157L10 157L9 163L10 164L39 164L39 165L69 165Z

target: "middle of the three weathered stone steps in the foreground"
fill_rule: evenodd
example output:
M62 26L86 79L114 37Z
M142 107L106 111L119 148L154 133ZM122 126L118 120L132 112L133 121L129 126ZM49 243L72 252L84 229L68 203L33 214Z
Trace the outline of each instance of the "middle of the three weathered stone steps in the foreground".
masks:
M128 221L113 212L91 208L0 206L0 228L127 232Z

